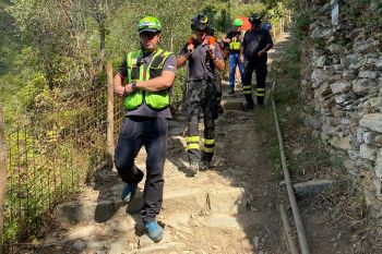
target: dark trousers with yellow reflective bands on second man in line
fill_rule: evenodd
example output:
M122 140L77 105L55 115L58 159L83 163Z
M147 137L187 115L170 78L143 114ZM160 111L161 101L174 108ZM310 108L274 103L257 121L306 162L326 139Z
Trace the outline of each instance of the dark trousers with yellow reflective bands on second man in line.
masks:
M188 120L187 152L190 162L211 161L215 152L216 84L215 80L189 81L186 88ZM199 137L200 113L204 114L204 146L201 153Z

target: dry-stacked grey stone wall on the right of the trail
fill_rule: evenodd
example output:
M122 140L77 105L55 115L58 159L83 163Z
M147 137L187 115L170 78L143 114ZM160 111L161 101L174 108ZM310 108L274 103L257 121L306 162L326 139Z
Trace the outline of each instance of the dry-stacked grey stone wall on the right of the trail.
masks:
M382 215L382 33L357 27L346 13L333 26L330 3L313 13L302 44L306 120L345 154L349 173L365 178L367 202Z

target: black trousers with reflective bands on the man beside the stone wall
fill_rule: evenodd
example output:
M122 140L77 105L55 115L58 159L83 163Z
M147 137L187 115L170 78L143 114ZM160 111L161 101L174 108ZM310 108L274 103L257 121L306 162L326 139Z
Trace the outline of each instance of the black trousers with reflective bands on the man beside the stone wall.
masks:
M265 97L265 81L266 81L266 56L263 56L261 58L253 58L251 60L244 61L244 75L242 78L242 90L247 100L248 105L253 105L252 99L252 73L253 70L256 74L256 98L258 98L258 105L264 104L264 97Z

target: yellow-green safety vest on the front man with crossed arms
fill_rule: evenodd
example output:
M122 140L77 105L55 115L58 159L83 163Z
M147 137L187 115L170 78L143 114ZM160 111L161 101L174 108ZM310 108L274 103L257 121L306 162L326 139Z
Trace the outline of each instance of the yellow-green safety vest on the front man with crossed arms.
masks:
M170 55L171 52L158 49L154 53L147 68L145 68L144 63L139 61L143 57L143 51L141 49L128 53L128 83L131 83L133 81L148 81L151 78L160 76L165 61ZM143 101L145 101L146 105L152 109L165 109L170 106L169 89L159 92L135 89L124 98L123 105L126 109L134 110L138 109L143 104Z

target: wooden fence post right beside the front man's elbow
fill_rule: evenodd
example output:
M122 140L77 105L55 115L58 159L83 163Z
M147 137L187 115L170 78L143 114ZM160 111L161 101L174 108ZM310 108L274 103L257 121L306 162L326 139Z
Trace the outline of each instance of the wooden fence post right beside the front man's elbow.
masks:
M108 63L106 66L107 73L107 154L108 154L108 165L109 169L114 169L114 157L115 157L115 95L114 95L114 76L112 76L112 65Z

